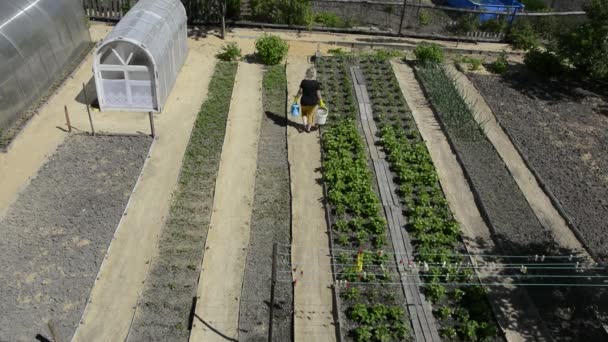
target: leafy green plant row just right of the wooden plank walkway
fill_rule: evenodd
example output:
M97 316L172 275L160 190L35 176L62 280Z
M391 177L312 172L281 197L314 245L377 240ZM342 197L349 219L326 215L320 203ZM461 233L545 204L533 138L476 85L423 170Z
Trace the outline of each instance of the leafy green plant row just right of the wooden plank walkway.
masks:
M426 65L431 65L432 60L443 60L442 52L434 48L424 55L429 57ZM450 339L491 339L497 332L483 288L445 285L471 282L473 274L453 266L464 260L454 253L462 244L460 227L452 217L429 152L398 85L395 89L397 81L392 69L385 60L361 60L360 64L374 119L381 126L381 144L399 182L416 261L431 265L423 277L424 288L427 298L435 304L436 317L442 323L441 333Z

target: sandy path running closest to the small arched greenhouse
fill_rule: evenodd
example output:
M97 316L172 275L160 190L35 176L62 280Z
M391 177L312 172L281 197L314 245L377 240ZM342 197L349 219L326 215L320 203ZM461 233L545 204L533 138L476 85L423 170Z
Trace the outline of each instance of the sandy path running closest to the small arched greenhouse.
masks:
M74 341L120 341L128 334L149 262L156 253L192 125L206 97L215 65L211 58L214 48L203 48L193 40L188 42L190 53L166 110L156 115L158 138L101 266ZM142 129L137 122L129 121L139 114L104 115L120 124L122 120L117 118L123 118L125 125Z

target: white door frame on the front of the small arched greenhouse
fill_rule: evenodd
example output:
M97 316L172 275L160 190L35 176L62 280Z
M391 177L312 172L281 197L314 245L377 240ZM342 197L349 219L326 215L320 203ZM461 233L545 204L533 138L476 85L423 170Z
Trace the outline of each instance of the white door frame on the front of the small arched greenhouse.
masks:
M127 60L123 60L122 57L119 55L118 52L116 52L115 49L111 48L112 53L114 55L116 55L116 57L118 57L119 61L121 64L102 64L102 63L96 63L96 69L95 73L96 73L96 77L95 77L95 82L96 82L96 87L97 87L97 98L99 101L99 108L102 111L120 111L120 112L160 112L160 108L158 105L158 86L157 86L157 81L158 81L158 72L156 71L156 63L154 61L154 59L151 58L151 56L147 53L146 51L146 55L148 56L149 60L152 63L152 70L150 70L150 67L145 66L145 65L129 65L129 62L131 61L131 57L133 56L133 54L131 54L129 56L129 58L127 58ZM145 51L145 50L144 50ZM99 58L99 57L97 57ZM140 86L144 85L143 83L145 82L147 85L147 82L149 82L149 86L150 86L150 96L151 96L151 106L148 107L129 107L128 105L125 107L120 107L120 106L113 106L113 105L108 105L106 103L106 97L105 97L105 92L106 92L106 88L105 88L105 82L104 80L111 80L108 78L103 77L104 72L118 72L118 73L122 73L123 74L123 78L118 79L117 81L121 81L120 83L124 83L124 88L125 88L125 96L126 99L128 101L129 104L132 104L133 101L133 94L132 94L132 86L136 86L136 83L140 83ZM149 75L149 81L145 80L145 81L135 81L132 80L129 76L131 73L147 73Z

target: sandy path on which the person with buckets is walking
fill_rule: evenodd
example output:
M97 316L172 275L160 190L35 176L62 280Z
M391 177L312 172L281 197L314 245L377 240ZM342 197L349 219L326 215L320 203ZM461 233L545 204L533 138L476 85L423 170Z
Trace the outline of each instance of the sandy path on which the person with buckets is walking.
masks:
M306 73L305 57L287 61L288 96L297 93ZM291 101L288 102L291 105ZM331 257L323 207L319 133L300 133L301 117L291 117L287 146L291 173L292 248L294 272L294 339L335 341L331 290Z

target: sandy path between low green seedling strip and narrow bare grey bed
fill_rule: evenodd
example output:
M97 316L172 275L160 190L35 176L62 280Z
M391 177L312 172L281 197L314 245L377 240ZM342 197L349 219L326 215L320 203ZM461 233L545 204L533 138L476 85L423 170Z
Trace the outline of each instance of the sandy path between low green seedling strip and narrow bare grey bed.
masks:
M190 341L238 339L239 305L257 168L262 69L236 74Z

